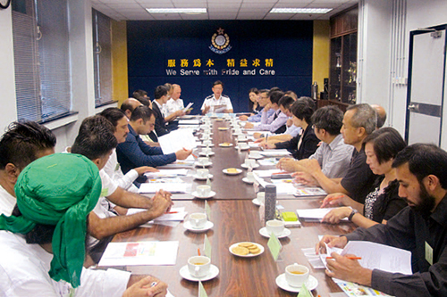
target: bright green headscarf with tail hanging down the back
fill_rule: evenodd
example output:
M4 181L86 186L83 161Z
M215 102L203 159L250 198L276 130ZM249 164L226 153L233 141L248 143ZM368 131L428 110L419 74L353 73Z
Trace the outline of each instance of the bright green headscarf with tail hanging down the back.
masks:
M0 229L27 234L36 224L54 225L55 281L80 285L85 258L87 216L101 193L97 166L79 154L55 153L30 163L15 185L21 217L0 217Z

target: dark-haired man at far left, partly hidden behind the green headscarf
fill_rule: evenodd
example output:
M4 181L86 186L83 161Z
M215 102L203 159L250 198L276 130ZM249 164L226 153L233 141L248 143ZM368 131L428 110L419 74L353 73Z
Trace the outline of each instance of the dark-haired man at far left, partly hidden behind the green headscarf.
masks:
M56 138L33 121L13 122L0 140L0 214L11 215L17 177L30 162L55 153Z

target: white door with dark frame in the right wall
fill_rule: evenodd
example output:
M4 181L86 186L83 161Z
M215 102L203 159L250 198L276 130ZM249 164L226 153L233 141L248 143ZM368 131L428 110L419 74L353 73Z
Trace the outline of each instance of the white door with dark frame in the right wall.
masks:
M440 145L445 74L445 26L410 34L405 136L409 144Z

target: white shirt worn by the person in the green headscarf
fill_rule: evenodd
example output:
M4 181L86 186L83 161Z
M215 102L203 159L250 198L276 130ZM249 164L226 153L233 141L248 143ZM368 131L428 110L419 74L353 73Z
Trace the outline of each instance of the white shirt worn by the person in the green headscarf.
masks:
M23 235L0 231L0 295L8 297L121 297L131 273L82 268L80 286L56 282L49 275L53 255Z

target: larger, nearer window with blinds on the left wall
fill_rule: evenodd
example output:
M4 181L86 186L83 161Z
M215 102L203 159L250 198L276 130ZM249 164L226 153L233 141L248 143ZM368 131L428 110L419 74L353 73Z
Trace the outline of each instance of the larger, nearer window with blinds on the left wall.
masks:
M13 1L18 119L47 121L72 109L66 0Z

